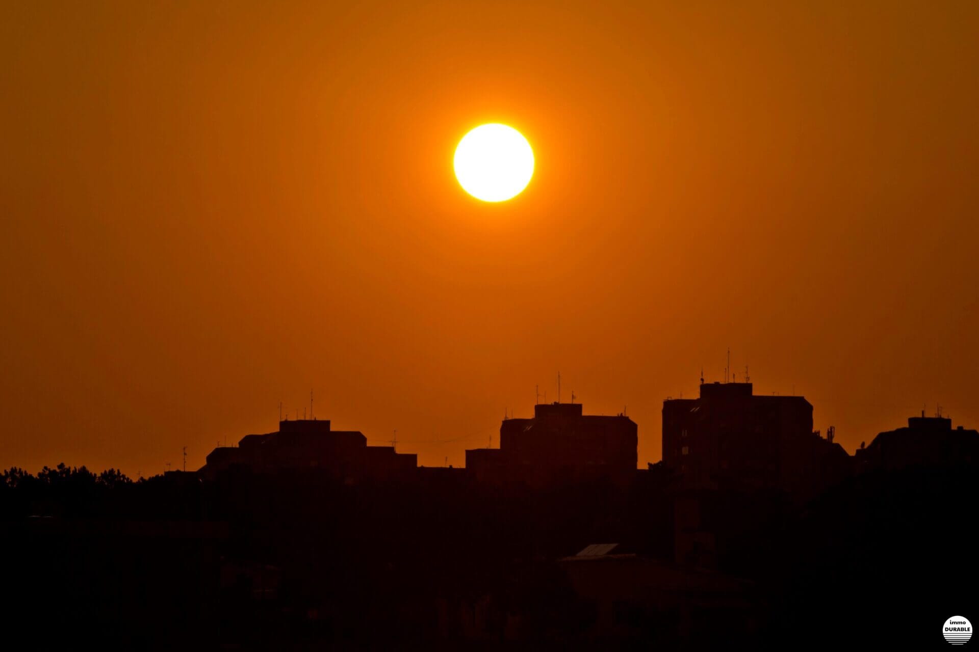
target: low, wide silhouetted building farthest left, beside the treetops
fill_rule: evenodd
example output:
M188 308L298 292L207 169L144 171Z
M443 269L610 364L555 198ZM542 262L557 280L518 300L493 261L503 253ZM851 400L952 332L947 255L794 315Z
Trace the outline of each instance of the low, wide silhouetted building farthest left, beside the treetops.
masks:
M329 420L279 421L278 432L246 435L238 446L218 447L199 474L213 478L232 468L255 473L317 469L339 478L384 477L413 470L415 454L396 453L393 446L367 446L355 430L331 430Z

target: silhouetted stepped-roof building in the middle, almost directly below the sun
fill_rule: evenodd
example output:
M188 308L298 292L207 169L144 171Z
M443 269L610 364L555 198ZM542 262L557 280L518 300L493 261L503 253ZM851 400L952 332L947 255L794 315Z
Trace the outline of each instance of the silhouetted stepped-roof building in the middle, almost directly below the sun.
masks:
M534 406L534 418L503 419L498 449L466 451L478 479L546 479L634 475L635 423L623 414L583 414L579 403Z

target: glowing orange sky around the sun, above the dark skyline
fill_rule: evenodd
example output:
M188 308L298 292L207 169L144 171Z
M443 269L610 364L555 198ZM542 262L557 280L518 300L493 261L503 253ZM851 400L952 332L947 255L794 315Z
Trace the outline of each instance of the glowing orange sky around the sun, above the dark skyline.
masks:
M0 466L197 468L310 388L459 465L558 370L644 466L727 346L851 452L979 426L979 4L634 4L5 3Z

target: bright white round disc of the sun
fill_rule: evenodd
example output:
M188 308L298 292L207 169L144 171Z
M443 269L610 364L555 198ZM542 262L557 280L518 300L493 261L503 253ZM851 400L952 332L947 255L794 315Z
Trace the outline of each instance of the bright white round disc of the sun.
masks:
M483 201L506 201L531 182L534 150L513 127L484 124L459 141L453 164L464 191Z

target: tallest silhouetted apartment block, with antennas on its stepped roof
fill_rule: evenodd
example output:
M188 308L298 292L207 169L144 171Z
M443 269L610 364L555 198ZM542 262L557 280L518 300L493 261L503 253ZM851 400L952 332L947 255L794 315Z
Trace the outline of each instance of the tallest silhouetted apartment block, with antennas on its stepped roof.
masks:
M850 468L831 433L813 432L805 398L757 396L750 382L704 383L698 399L663 402L663 461L689 486L817 491Z

